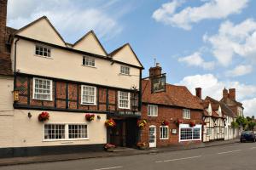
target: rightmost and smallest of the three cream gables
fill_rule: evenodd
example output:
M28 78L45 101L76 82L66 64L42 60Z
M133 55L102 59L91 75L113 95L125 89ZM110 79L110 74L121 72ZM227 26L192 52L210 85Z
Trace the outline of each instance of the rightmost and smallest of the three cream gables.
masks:
M143 67L139 59L137 59L137 55L134 53L129 43L125 43L125 45L115 49L109 55L114 60L117 60L123 63L129 63L130 65L136 65L138 67Z

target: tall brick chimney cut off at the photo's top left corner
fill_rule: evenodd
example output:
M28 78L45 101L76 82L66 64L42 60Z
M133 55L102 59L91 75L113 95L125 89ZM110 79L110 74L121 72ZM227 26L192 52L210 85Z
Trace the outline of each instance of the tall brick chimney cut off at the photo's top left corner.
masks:
M7 0L0 0L0 54L5 53Z

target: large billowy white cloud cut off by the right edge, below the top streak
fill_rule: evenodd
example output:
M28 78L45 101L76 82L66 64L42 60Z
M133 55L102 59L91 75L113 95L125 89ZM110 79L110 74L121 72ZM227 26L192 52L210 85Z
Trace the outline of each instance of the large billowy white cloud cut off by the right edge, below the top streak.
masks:
M256 61L256 22L253 19L237 25L225 21L219 27L218 34L205 35L203 39L212 45L212 53L221 65L230 65L235 55L253 63Z

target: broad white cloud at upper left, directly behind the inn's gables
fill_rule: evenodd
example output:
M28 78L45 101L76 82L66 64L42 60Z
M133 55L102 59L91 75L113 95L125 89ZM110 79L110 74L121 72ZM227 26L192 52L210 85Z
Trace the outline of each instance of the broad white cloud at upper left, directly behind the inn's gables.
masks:
M113 4L102 5L101 8L89 3L94 2L12 0L8 7L8 26L20 28L46 15L63 37L71 37L67 41L75 42L90 30L96 31L97 36L103 39L116 36L122 27L117 17L110 16L108 12Z

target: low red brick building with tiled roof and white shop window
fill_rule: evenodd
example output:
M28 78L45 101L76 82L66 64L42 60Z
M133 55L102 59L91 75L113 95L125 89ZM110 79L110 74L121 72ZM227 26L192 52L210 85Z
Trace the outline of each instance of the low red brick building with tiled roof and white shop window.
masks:
M166 83L165 90L153 93L154 78L163 75L160 65L149 69L143 79L142 119L147 121L141 141L149 147L201 142L203 108L200 99L184 86Z

